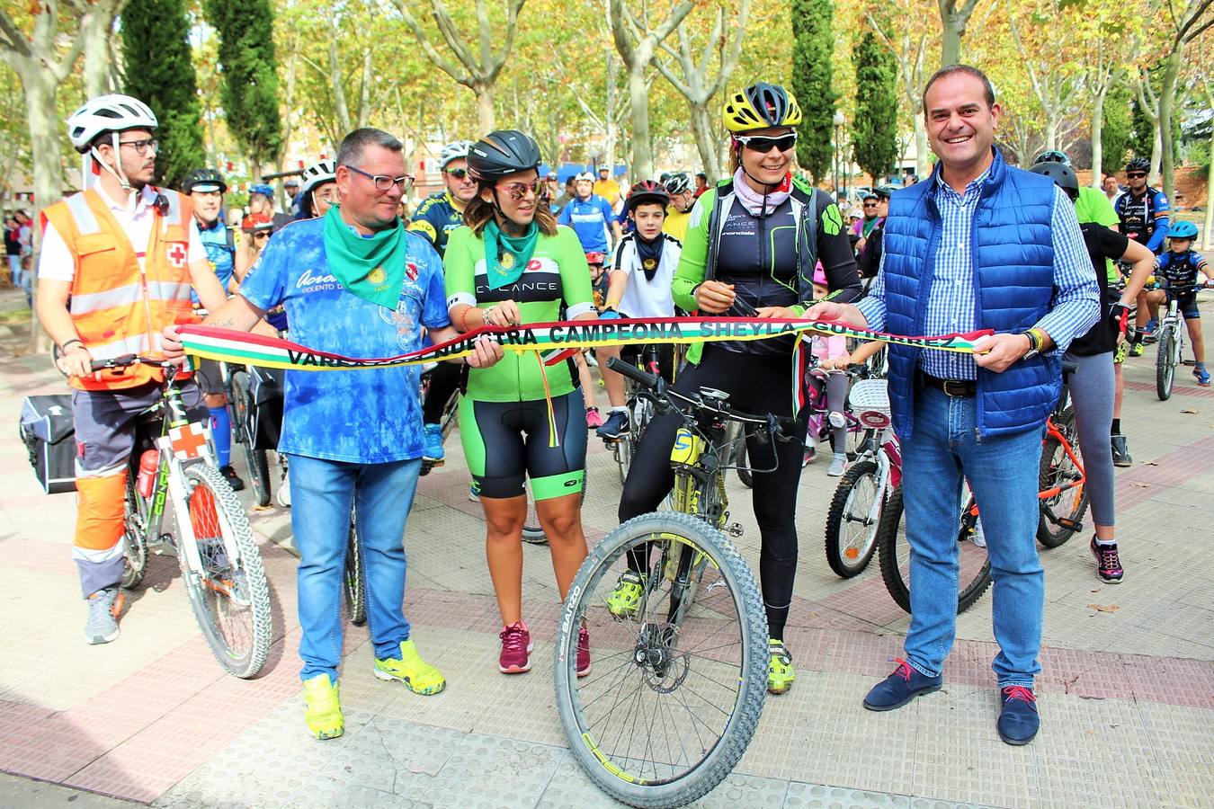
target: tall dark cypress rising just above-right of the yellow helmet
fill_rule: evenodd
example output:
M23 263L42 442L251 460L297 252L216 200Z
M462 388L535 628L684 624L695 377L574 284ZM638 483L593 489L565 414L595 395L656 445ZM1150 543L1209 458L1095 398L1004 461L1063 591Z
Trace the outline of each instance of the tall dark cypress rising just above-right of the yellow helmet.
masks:
M796 159L821 181L830 167L835 95L832 86L833 0L792 0L793 95L804 118L796 127Z

